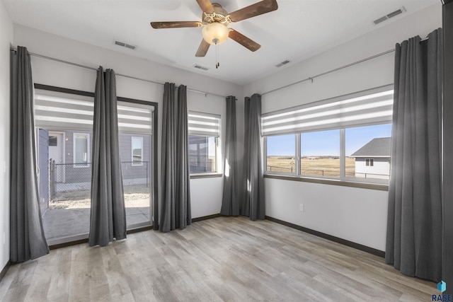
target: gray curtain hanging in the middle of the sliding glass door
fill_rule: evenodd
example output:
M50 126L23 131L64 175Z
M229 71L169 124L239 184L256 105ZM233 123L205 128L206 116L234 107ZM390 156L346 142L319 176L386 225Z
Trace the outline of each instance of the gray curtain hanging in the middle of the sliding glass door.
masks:
M91 152L91 217L88 244L126 238L125 199L118 144L115 71L98 69Z

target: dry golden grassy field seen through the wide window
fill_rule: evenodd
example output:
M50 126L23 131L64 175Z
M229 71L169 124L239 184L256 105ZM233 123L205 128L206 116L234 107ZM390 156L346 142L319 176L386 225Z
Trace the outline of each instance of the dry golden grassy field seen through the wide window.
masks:
M268 156L268 172L294 173L294 158L289 156ZM340 176L340 158L302 158L302 175ZM355 159L346 158L346 176L355 176Z

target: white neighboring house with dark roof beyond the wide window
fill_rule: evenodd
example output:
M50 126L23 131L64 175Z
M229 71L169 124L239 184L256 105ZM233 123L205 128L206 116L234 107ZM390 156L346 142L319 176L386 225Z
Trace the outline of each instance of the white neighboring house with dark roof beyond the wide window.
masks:
M391 137L372 139L350 155L355 158L355 177L389 179Z

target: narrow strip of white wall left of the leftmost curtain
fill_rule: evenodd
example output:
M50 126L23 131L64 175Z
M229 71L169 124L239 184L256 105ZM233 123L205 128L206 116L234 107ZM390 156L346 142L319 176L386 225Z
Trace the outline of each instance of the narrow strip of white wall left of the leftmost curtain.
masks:
M13 23L0 1L0 145L9 146L9 47ZM0 271L9 260L9 147L0 148Z

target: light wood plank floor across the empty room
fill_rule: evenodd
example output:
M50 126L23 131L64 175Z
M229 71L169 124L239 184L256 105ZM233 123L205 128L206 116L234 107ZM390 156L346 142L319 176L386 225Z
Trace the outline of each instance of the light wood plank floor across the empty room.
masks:
M12 265L0 301L431 301L382 257L271 221L219 217Z

